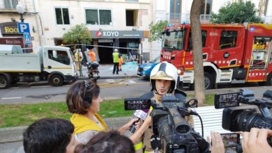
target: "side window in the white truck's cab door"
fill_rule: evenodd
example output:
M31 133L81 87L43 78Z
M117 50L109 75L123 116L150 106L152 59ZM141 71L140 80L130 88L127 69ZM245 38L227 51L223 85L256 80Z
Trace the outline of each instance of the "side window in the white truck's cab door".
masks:
M70 65L70 58L66 51L48 50L48 58L65 65Z

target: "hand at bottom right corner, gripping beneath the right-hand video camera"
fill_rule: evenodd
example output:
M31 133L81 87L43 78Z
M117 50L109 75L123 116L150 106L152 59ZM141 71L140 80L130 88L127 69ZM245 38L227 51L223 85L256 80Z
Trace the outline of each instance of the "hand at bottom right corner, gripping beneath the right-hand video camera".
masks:
M250 132L240 132L240 134L243 135L243 152L272 152L272 147L270 147L269 143L267 143L267 138L272 136L272 130L252 128Z

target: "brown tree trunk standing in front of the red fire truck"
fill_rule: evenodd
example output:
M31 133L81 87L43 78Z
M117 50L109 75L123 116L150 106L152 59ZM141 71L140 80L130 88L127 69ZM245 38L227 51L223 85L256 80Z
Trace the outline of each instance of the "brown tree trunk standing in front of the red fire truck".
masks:
M190 26L192 34L192 54L194 59L195 97L199 104L205 102L204 68L202 58L202 34L200 26L200 11L204 0L192 1L190 11Z

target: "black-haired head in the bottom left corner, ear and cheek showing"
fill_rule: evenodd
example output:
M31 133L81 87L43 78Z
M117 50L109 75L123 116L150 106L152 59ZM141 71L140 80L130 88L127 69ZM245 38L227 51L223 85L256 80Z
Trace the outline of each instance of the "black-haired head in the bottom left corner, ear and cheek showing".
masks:
M74 126L68 120L43 118L33 122L24 131L26 153L68 153L75 150Z

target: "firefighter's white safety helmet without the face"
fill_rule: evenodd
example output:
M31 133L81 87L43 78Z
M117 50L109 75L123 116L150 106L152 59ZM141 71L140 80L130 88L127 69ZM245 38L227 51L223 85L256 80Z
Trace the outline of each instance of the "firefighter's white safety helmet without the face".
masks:
M150 74L150 82L153 89L156 90L156 80L169 80L172 81L168 93L173 92L179 83L178 70L174 65L168 62L162 62L156 65ZM158 92L156 90L156 92Z

